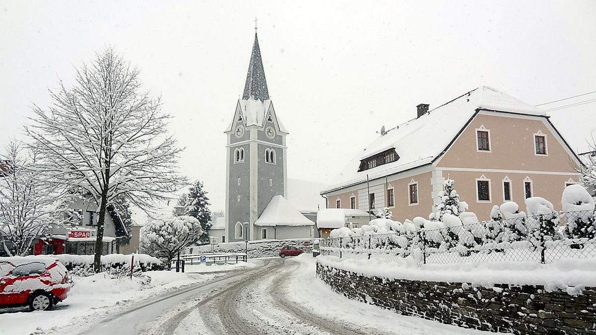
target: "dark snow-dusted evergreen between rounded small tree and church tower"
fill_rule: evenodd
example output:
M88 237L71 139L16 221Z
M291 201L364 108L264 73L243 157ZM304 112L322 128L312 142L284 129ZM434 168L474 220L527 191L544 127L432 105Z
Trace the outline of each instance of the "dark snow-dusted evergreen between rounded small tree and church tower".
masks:
M211 210L209 210L209 198L207 197L207 191L203 189L203 183L200 181L195 182L190 189L188 194L182 194L178 199L178 206L182 206L182 215L193 216L201 222L203 228L203 234L195 242L207 243L209 241L209 234L207 230L211 227L211 221L213 219ZM176 212L174 212L175 215Z

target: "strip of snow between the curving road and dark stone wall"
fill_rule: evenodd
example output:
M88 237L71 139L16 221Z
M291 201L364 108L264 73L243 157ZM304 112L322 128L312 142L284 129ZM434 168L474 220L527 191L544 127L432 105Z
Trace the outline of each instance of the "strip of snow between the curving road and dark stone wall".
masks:
M316 278L315 258L312 255L300 255L292 260L299 262L300 266L290 279L287 297L314 314L388 334L486 334L455 325L406 317L348 299Z

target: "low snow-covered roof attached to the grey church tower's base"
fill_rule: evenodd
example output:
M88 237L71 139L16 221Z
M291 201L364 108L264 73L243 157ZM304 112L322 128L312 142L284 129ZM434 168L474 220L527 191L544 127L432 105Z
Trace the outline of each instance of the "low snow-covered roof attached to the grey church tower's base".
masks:
M259 219L254 222L257 226L312 226L314 224L283 196L271 198Z

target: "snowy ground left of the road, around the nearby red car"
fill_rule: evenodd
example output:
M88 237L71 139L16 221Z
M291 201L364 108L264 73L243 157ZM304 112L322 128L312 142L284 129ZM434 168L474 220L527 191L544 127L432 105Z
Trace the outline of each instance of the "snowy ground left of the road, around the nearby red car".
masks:
M90 277L73 277L69 296L50 311L29 312L29 308L0 309L0 334L51 333L57 327L81 322L91 315L105 315L133 302L182 286L200 283L214 274L183 274L170 271L144 272L151 278L113 278L105 272Z

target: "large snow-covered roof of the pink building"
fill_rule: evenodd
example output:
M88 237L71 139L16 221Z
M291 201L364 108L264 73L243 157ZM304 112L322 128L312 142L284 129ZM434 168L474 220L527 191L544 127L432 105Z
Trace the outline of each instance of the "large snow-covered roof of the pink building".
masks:
M496 110L511 113L545 116L544 111L488 86L480 86L429 113L409 120L384 135L353 157L352 161L330 185L321 192L358 184L403 170L431 163L457 136L476 110ZM399 159L395 162L358 172L362 159L395 148Z

